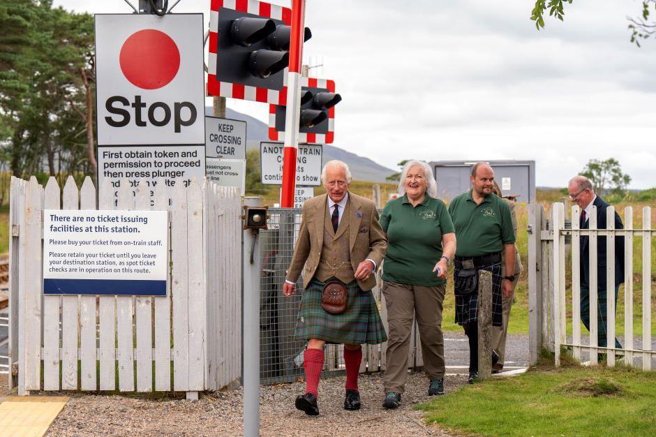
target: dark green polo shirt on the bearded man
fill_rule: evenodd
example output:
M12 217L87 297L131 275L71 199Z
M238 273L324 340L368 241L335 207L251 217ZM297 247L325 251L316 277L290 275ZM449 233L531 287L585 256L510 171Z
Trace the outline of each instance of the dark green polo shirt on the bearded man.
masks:
M515 242L510 208L497 195L490 194L476 205L471 191L462 193L449 204L449 214L456 228L456 256L498 253L504 244Z

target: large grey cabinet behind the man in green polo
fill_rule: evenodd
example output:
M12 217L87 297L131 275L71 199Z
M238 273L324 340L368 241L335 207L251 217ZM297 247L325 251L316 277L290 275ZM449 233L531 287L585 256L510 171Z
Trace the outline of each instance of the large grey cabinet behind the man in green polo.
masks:
M535 202L535 161L433 161L438 198L452 200L471 188L472 165L485 162L494 170L494 180L504 196L516 196L518 202Z

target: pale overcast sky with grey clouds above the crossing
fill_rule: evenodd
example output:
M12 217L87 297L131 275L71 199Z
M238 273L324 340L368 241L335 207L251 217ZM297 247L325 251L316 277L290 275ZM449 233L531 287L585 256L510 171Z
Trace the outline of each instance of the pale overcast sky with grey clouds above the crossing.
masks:
M124 0L54 3L131 12ZM174 12L207 22L209 3L182 0ZM564 23L539 32L532 3L307 0L304 59L323 64L314 75L343 97L335 145L389 168L533 159L540 186L565 186L590 158L614 157L632 188L656 186L656 39L631 45L625 20L641 2L576 0ZM228 106L268 121L262 103Z

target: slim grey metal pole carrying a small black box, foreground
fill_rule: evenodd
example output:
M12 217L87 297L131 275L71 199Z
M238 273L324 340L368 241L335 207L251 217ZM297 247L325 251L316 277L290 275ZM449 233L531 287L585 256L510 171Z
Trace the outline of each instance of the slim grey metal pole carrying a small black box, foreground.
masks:
M259 197L245 197L244 205L257 207ZM260 240L251 230L244 230L242 256L244 276L244 323L242 356L244 357L244 437L260 435ZM255 242L253 242L255 239ZM253 264L251 264L251 248Z

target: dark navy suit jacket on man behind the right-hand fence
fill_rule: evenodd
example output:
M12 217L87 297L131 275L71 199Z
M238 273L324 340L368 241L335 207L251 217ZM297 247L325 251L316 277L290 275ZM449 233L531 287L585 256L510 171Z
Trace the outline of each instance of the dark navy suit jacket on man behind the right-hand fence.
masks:
M606 229L606 208L609 204L604 202L597 195L595 202L592 203L597 207L597 229ZM579 217L581 229L589 229L590 220L583 221ZM615 228L624 229L620 215L615 213ZM581 286L590 286L590 238L581 235L579 240L581 248ZM606 253L606 237L597 237L597 290L606 290L606 266L608 265L608 255ZM615 285L618 286L624 282L624 237L615 238Z

